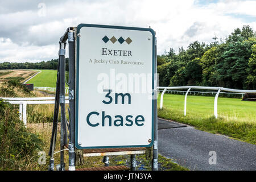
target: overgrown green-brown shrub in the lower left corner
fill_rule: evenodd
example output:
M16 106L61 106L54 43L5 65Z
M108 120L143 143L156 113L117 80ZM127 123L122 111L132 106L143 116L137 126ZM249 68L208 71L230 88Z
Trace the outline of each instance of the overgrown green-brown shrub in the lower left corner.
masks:
M0 169L19 169L41 145L42 140L20 121L18 107L0 101Z

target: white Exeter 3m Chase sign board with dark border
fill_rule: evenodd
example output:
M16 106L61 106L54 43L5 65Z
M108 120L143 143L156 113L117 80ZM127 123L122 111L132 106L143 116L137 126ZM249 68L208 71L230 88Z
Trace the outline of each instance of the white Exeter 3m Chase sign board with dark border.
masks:
M154 65L151 28L77 27L77 148L152 146Z

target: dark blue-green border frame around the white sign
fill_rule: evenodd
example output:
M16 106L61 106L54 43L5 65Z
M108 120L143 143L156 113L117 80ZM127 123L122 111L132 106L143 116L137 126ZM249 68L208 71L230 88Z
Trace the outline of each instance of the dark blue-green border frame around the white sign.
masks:
M152 92L152 131L151 131L151 142L147 145L131 145L131 146L93 146L93 147L82 147L78 143L78 115L79 115L79 49L80 49L80 29L82 27L95 27L95 28L114 28L114 29L121 29L121 30L137 30L137 31L149 31L152 34L152 90L155 90L155 31L152 30L151 28L139 28L139 27L125 27L125 26L109 26L109 25L101 25L101 24L79 24L77 26L77 31L76 31L76 52L75 52L75 57L76 57L76 73L75 73L75 105L76 105L76 111L75 111L75 146L77 149L89 149L89 148L127 148L127 147L151 147L154 144L154 134L155 134L155 104L154 104L154 94L156 92ZM88 87L89 89L89 87Z

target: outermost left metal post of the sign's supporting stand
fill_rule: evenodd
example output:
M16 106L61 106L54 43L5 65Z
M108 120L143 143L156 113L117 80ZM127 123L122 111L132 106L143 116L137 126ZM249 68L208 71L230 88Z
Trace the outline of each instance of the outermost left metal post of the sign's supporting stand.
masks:
M67 127L65 117L65 43L60 42L60 171L65 170L64 146L67 144Z

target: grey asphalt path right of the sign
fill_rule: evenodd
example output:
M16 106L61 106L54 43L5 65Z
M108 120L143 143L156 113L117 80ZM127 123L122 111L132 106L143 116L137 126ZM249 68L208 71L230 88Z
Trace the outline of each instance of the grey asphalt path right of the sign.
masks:
M256 170L256 145L191 126L158 130L158 148L190 170Z

